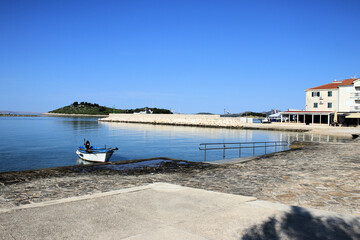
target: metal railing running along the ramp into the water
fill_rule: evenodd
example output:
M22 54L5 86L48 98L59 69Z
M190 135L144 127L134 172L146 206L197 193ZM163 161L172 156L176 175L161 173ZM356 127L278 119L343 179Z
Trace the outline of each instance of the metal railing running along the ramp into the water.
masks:
M239 149L239 158L241 158L241 149L252 148L253 156L255 156L256 148L264 148L265 154L267 148L275 148L275 152L278 148L287 147L289 143L287 141L270 141L270 142L237 142L237 143L200 143L199 150L204 151L204 161L206 161L206 151L209 150L223 150L223 159L225 159L226 149Z

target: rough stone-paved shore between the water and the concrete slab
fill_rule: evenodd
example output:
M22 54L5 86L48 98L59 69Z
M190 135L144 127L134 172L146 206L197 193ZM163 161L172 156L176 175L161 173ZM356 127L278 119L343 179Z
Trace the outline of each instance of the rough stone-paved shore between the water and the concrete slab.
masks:
M360 215L360 141L297 144L300 148L224 165L163 160L135 169L112 163L0 173L0 211L166 182Z

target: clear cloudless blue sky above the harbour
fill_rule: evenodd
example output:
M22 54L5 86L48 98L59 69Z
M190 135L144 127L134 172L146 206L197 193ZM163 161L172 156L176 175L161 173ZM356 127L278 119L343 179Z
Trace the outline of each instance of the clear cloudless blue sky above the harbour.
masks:
M0 110L304 109L360 76L360 1L0 0Z

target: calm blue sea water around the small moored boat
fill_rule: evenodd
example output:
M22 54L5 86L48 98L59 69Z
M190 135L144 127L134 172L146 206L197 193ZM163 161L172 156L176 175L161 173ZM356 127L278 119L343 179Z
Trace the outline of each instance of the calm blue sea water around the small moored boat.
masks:
M75 151L84 138L94 146L118 147L111 161L152 157L203 161L200 143L342 141L291 132L104 123L97 118L0 117L0 172L76 165ZM257 149L256 154L264 152ZM249 155L252 150L242 152ZM227 150L226 158L235 157L238 150ZM208 161L220 159L222 151L207 152Z

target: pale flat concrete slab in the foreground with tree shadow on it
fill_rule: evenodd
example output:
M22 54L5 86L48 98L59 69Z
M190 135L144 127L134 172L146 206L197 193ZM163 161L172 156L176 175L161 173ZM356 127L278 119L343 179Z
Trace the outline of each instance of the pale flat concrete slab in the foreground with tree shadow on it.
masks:
M1 209L0 239L360 239L360 218L155 183Z

